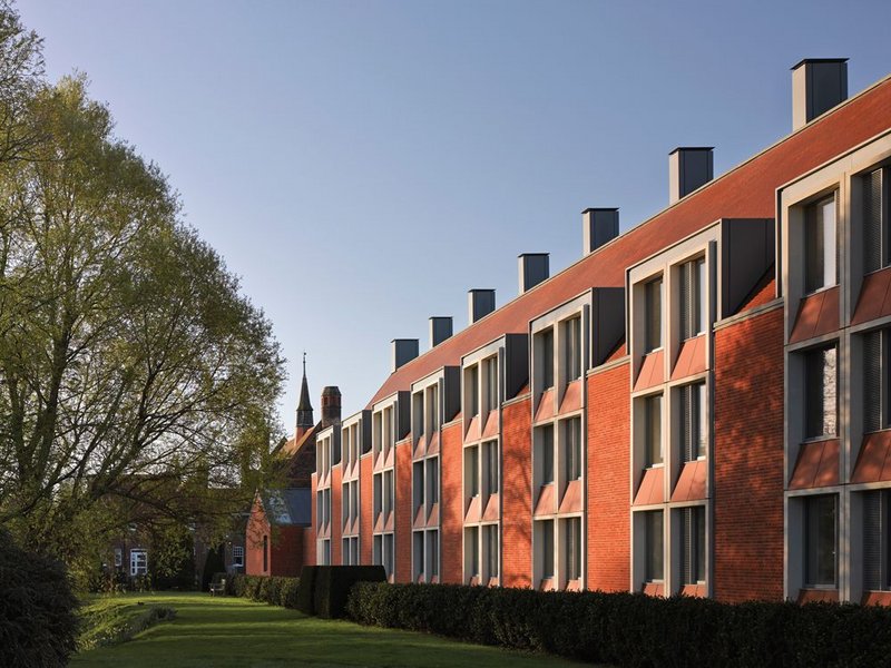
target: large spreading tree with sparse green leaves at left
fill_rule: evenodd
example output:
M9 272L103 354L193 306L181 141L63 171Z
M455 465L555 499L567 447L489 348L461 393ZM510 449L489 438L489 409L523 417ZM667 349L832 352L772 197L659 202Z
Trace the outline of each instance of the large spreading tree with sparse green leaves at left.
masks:
M0 4L4 20L18 24ZM20 70L17 127L0 127L27 147L0 149L0 525L70 559L85 531L206 523L244 503L216 490L253 491L283 364L84 78Z

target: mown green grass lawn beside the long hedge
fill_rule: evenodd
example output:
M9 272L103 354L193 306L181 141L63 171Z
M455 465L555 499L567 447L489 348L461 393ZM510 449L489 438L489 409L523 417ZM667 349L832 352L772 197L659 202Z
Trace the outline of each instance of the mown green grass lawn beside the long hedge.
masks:
M556 657L467 645L435 636L330 621L206 593L140 593L102 599L102 605L169 606L176 618L134 640L77 655L71 666L578 666Z

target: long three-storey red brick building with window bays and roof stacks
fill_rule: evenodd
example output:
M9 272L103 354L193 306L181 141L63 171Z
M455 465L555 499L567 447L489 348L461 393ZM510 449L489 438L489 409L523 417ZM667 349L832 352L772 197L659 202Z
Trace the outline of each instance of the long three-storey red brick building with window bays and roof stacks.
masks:
M793 130L469 326L393 342L316 434L304 556L391 580L746 599L891 590L891 78L793 68Z

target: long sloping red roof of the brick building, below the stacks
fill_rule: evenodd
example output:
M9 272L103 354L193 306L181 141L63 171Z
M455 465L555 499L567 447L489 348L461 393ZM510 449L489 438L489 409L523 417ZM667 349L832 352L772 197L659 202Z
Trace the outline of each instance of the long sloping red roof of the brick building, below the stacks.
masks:
M742 165L399 367L368 409L591 287L621 287L625 269L721 218L773 218L776 188L891 126L891 78L842 102Z

